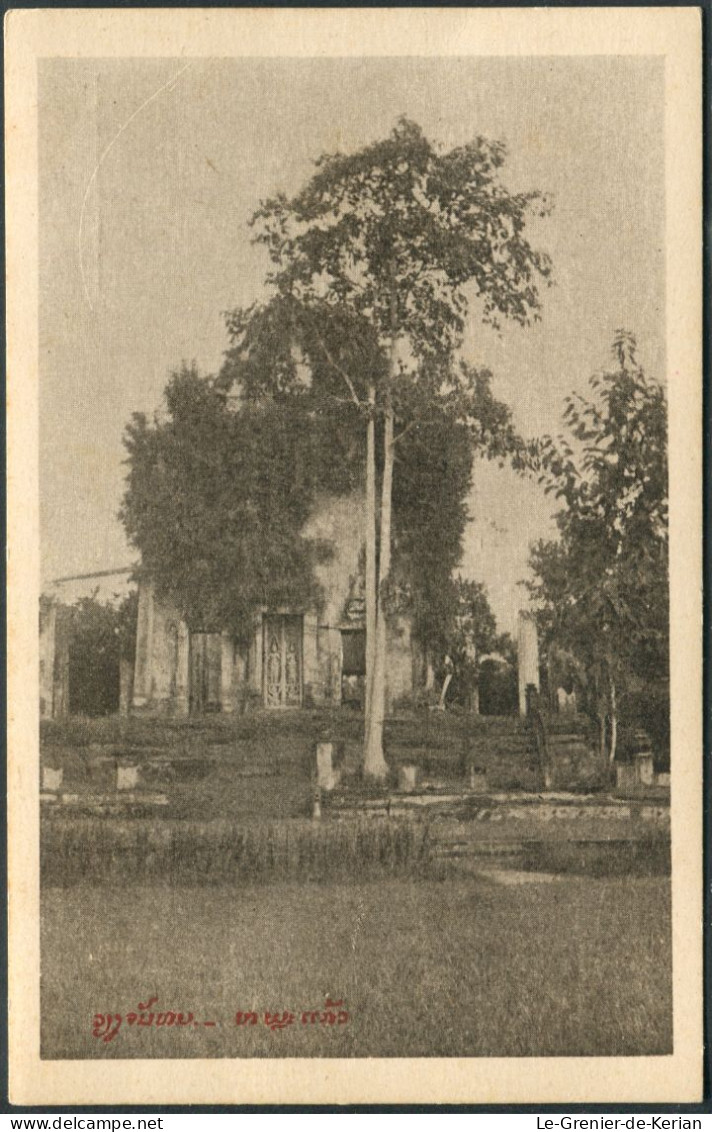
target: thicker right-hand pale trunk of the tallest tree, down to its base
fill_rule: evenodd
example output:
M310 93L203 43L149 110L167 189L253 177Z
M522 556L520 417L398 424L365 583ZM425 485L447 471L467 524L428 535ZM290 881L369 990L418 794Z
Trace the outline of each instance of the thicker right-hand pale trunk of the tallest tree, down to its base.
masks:
M384 474L380 494L380 543L378 560L378 591L376 600L376 650L374 681L366 729L363 769L372 778L383 779L388 770L384 757L384 719L386 707L386 616L384 611L385 583L391 571L391 509L393 495L393 409L389 401L384 417Z

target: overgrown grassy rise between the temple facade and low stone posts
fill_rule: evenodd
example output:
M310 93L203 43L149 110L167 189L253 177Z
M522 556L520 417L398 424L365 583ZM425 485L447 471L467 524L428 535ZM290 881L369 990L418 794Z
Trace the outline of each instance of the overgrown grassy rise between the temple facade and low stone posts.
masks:
M157 824L173 818L242 823L307 817L314 803L315 744L328 737L343 772L337 792L383 797L383 786L363 781L363 720L350 712L299 711L289 714L211 715L195 719L111 717L46 720L41 729L42 762L61 767L63 789L78 795L78 811L145 813L153 805ZM464 710L410 712L386 721L389 786L397 769L419 767L444 789L469 786L472 767L487 775L488 790L541 789L531 735L518 719L473 715ZM117 763L138 769L131 806L117 796ZM604 786L594 752L582 743L556 752L556 789L591 792ZM95 800L96 796L105 799ZM328 807L328 801L325 800Z

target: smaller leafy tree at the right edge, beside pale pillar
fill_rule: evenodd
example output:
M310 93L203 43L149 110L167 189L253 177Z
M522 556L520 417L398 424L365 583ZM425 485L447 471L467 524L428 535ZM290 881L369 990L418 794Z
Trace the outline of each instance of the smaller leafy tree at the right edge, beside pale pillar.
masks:
M558 541L532 548L529 584L544 640L586 675L611 762L620 687L643 672L667 680L669 651L666 398L630 333L617 332L612 353L594 397L566 400L568 439L541 443L540 481L566 506Z

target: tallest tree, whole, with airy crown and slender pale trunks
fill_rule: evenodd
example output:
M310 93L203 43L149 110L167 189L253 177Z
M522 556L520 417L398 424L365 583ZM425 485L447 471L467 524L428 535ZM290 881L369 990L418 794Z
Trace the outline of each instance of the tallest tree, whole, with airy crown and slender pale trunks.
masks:
M306 358L311 380L318 374L366 423L364 770L376 778L386 773L397 446L434 401L471 418L477 383L453 365L470 298L484 321L525 324L537 317L538 282L550 274L548 257L524 234L529 214L543 215L546 201L538 191L509 192L499 179L504 161L499 142L478 137L444 152L405 119L359 153L324 155L301 192L265 201L252 217L272 260L272 297L229 318L233 375L249 385L272 350L271 386L280 395L304 384Z

